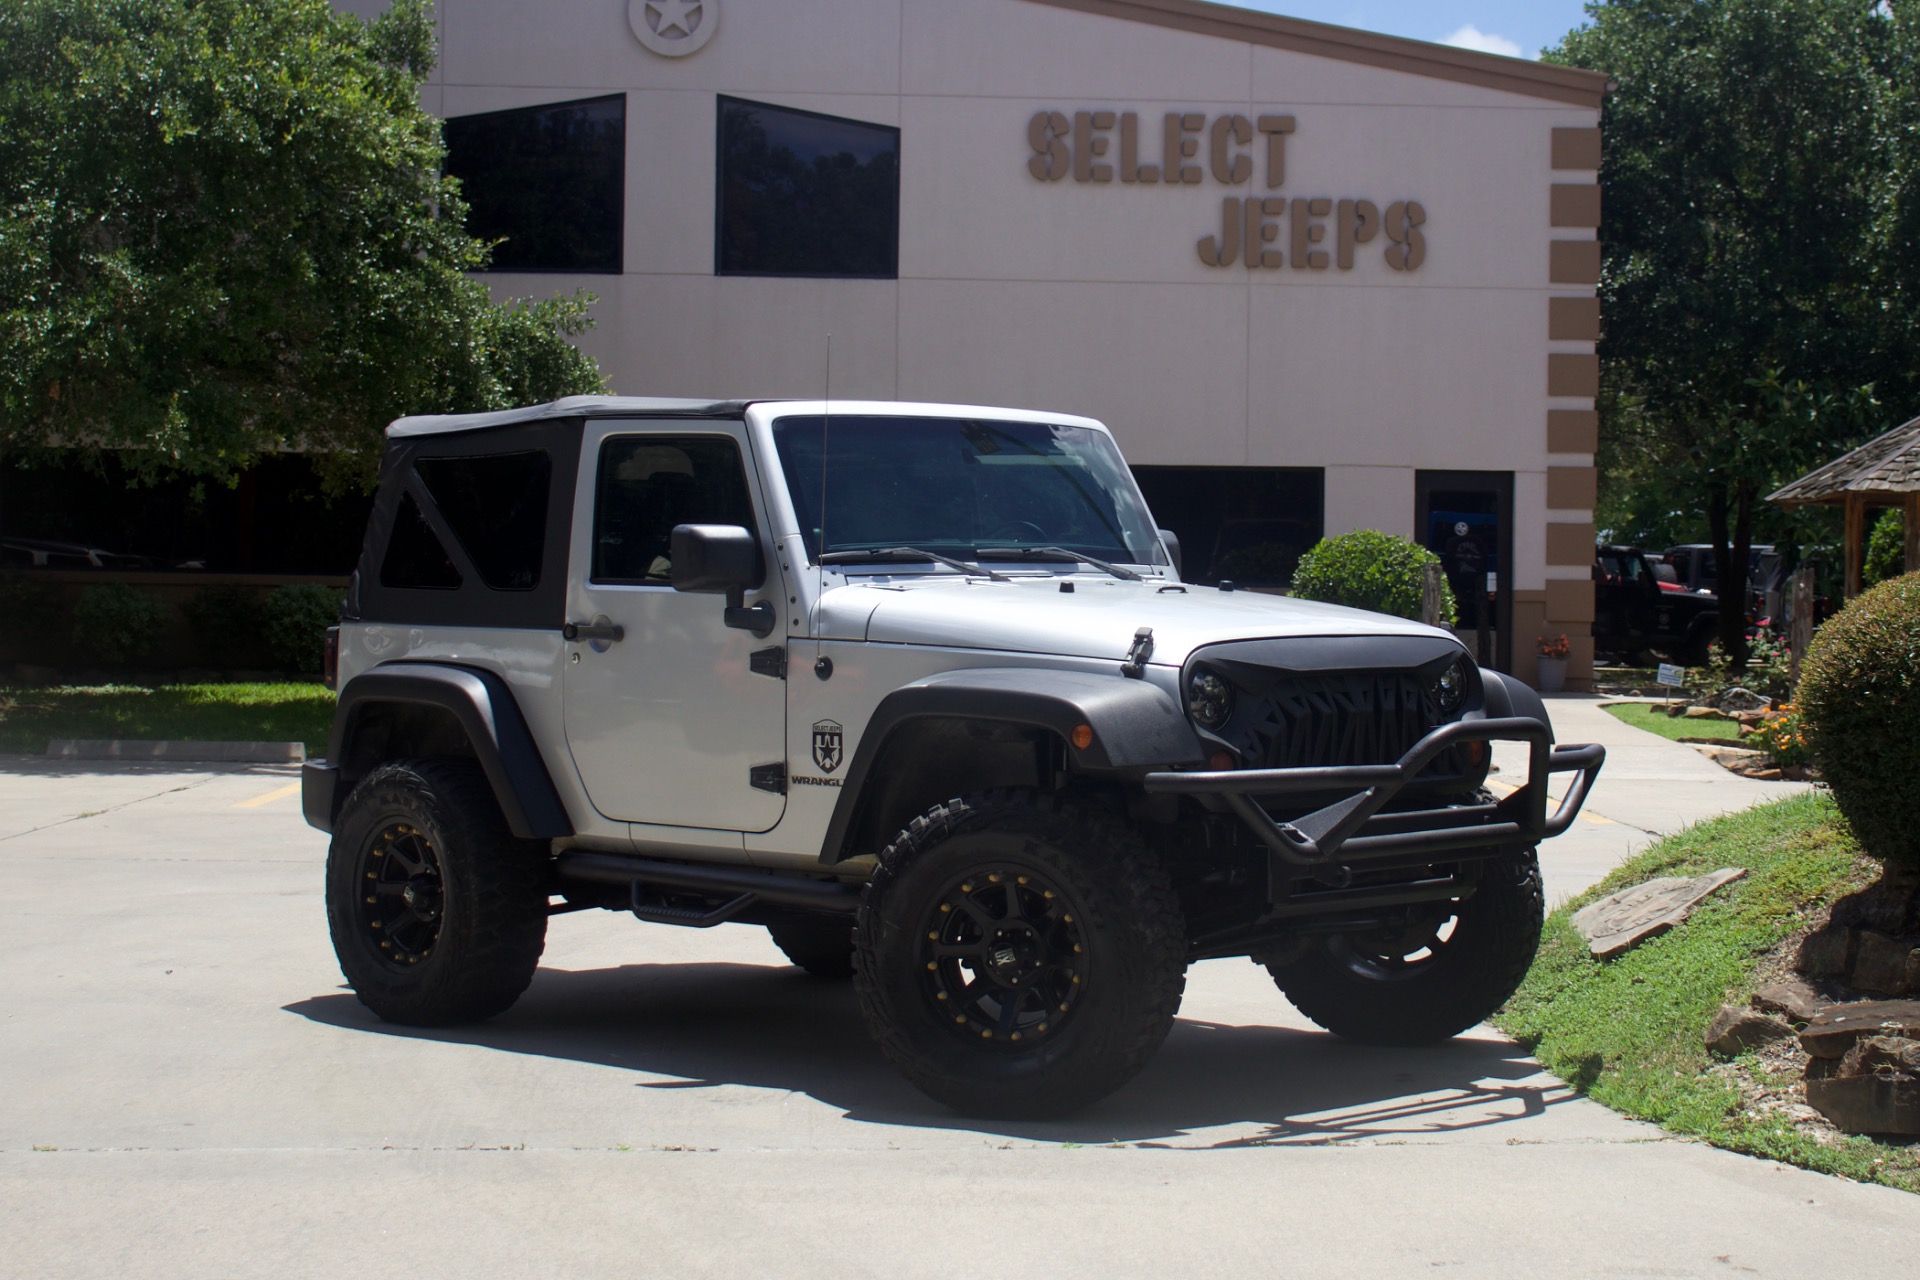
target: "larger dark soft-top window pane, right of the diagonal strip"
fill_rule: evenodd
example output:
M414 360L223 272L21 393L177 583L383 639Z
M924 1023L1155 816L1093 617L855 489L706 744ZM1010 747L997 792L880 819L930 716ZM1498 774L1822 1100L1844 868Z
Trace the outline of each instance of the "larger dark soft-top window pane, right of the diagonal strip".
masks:
M419 459L413 470L480 581L495 591L532 591L540 585L553 478L553 462L543 449Z

